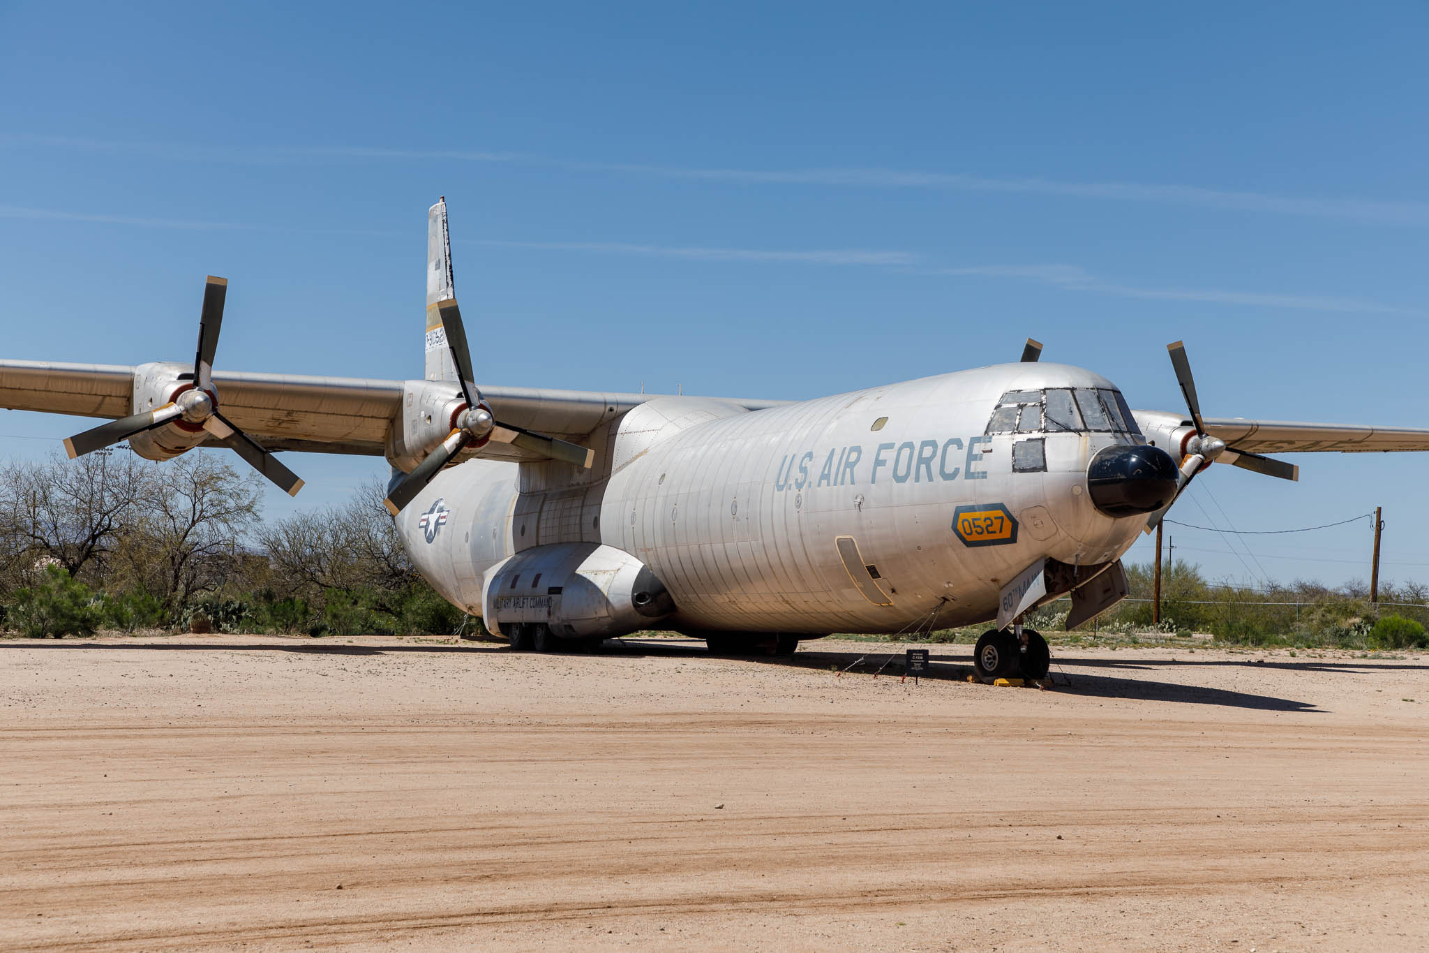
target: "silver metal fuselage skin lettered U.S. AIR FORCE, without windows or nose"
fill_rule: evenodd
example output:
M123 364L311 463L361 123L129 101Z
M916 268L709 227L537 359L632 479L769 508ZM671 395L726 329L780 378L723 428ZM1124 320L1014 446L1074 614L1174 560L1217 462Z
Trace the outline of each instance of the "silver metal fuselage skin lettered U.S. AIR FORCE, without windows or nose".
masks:
M1103 516L1085 493L1089 457L1133 437L1046 434L1047 470L1015 473L1012 444L1023 436L983 436L1007 390L1110 386L1087 370L1026 363L759 411L660 397L593 434L592 471L464 463L437 476L397 524L422 573L470 612L482 610L484 573L510 553L592 542L654 572L674 599L664 623L673 627L822 634L972 624L996 616L1002 586L1035 560L1116 560L1145 526ZM419 522L434 504L449 513L427 542ZM967 546L952 526L960 506L1006 507L1016 540ZM856 583L839 537L876 566L873 592L887 604Z

